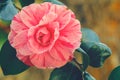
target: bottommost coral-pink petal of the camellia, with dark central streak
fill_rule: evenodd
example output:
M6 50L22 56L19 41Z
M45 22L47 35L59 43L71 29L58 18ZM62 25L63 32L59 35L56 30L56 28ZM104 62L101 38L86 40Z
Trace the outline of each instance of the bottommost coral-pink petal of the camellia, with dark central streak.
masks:
M30 60L33 65L37 68L55 68L61 67L66 64L66 61L57 61L53 57L50 56L48 52L43 54L35 54L30 56Z

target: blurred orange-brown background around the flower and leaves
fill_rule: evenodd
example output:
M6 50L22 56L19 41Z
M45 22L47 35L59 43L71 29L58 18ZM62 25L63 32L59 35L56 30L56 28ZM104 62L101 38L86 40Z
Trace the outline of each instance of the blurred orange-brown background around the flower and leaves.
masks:
M36 0L40 3L42 0ZM113 68L120 64L120 0L60 0L75 12L82 27L94 30L101 41L107 44L112 55L101 68L88 68L96 80L108 80ZM15 5L20 7L18 0ZM0 22L0 47L7 38L9 28ZM18 74L4 76L0 69L0 80L49 80L52 70L39 70L34 67Z

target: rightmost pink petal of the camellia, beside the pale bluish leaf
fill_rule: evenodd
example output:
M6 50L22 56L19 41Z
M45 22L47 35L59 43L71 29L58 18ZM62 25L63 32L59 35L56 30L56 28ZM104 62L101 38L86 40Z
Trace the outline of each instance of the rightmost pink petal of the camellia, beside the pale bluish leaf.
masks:
M75 19L71 19L69 24L60 31L61 36L60 40L67 39L71 44L78 48L80 46L80 40L82 37L82 33L80 32L80 22Z

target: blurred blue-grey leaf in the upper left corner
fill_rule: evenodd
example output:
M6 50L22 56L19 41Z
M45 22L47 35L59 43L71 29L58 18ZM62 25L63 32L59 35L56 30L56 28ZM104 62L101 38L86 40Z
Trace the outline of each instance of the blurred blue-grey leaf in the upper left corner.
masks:
M0 26L8 27L13 19L13 16L18 12L12 0L0 2Z

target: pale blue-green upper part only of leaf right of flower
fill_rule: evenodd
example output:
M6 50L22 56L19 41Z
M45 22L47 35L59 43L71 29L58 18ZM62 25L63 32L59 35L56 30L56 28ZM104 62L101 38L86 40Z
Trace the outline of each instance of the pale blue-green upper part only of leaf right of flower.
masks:
M89 28L82 28L82 42L100 42L98 35Z

